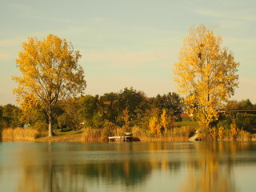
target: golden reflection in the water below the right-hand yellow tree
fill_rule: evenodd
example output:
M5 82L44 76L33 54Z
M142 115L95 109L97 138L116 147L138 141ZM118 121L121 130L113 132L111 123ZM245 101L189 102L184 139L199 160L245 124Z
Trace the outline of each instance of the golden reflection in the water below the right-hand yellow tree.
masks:
M237 191L232 169L236 152L249 146L248 142L197 142L197 159L188 163L180 191Z

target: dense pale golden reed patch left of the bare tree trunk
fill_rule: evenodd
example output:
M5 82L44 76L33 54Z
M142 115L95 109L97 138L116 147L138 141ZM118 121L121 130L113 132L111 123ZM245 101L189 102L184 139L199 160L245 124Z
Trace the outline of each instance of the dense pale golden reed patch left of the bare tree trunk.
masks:
M40 135L37 130L32 128L23 129L21 127L17 128L7 128L2 130L2 140L9 141L34 141Z

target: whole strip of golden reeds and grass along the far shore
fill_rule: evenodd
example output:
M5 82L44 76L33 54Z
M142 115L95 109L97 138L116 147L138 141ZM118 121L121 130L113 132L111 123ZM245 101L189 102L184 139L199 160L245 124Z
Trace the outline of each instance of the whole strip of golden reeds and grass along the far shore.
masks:
M182 124L182 123L181 123ZM38 132L33 128L23 129L7 128L2 130L2 141L21 142L107 142L109 136L121 135L129 131L134 135L136 141L142 142L188 142L189 138L198 130L197 126L174 126L170 130L152 134L147 128L138 126L127 129L126 127L109 126L103 129L83 128L81 130L70 130L58 132L56 136L46 137L46 134ZM60 130L59 130L60 131ZM232 126L230 132L226 132L222 127L219 129L200 129L199 140L202 141L250 141L251 134L246 130L238 130Z

